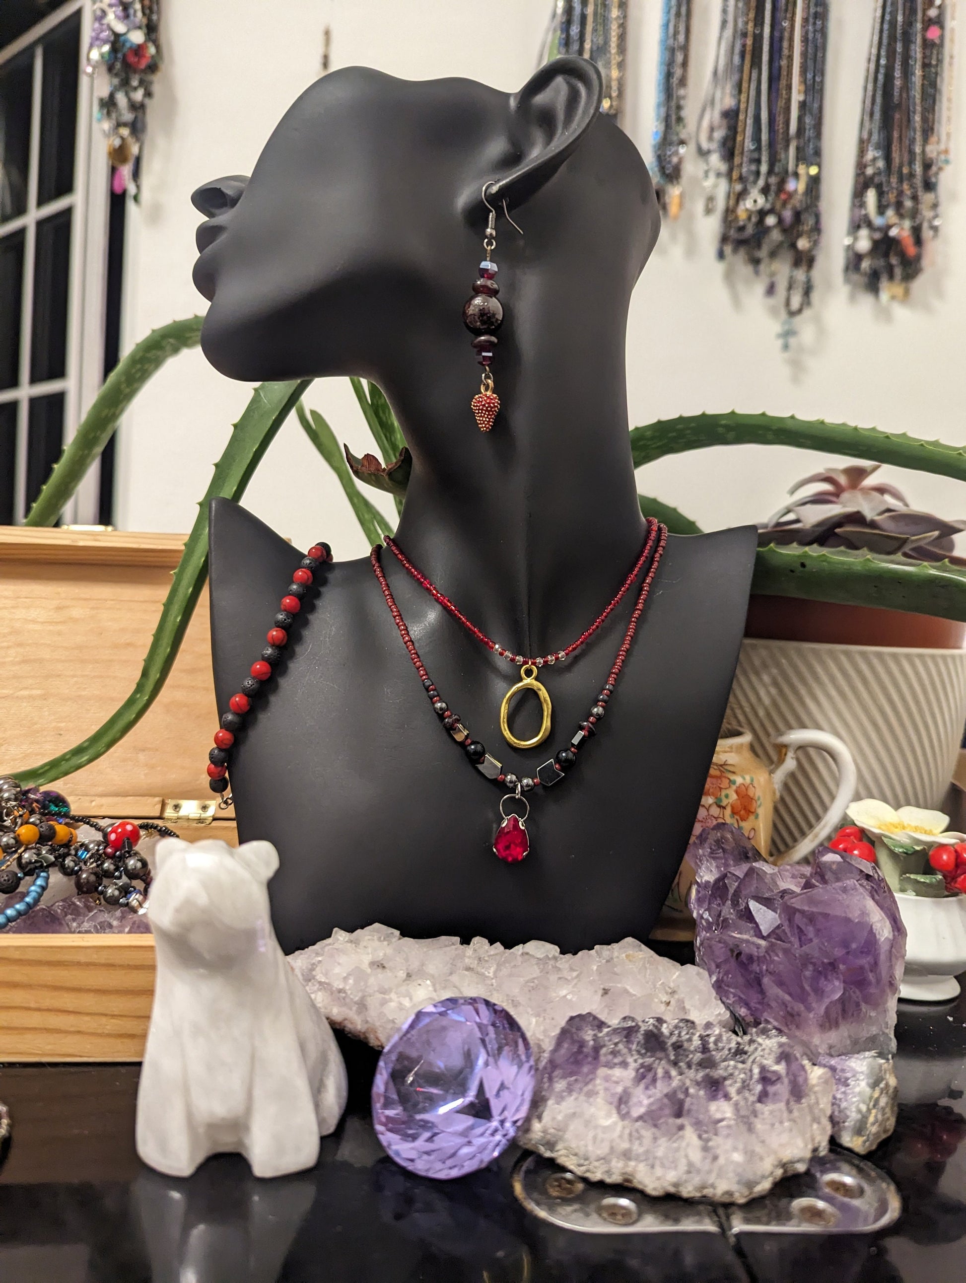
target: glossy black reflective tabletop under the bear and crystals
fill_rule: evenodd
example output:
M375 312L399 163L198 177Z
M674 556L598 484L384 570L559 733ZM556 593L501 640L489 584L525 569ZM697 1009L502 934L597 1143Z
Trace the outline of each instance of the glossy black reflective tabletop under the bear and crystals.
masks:
M880 1236L584 1234L530 1215L520 1153L462 1180L391 1162L368 1119L376 1055L340 1039L352 1083L312 1171L257 1180L237 1157L191 1179L133 1150L136 1065L8 1065L0 1283L963 1283L966 997L899 1003L895 1133L871 1161L903 1212Z

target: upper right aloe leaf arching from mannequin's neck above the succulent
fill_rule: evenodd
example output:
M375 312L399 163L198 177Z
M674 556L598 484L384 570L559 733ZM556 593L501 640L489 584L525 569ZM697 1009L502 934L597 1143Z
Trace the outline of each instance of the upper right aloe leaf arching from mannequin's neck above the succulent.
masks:
M682 414L631 429L635 468L708 445L795 445L966 481L966 449L877 427L772 414Z

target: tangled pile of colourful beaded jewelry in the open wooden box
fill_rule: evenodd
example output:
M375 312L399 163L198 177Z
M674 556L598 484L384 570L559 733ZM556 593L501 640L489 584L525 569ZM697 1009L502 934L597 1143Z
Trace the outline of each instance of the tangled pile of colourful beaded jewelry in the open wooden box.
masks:
M0 912L0 929L36 908L51 869L73 878L78 896L97 896L104 905L144 912L151 872L135 849L142 831L176 837L150 820L140 825L119 820L106 826L73 815L71 803L55 789L22 789L17 780L0 779L0 894L10 896L24 878L33 879L21 901Z

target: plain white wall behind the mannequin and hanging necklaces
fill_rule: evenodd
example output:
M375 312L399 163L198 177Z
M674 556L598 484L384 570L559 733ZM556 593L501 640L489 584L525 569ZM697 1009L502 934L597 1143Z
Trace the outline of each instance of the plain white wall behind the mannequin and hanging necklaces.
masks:
M717 32L717 0L694 0L691 105L697 115ZM784 355L780 312L739 263L715 260L717 226L700 212L700 166L689 158L685 212L667 226L638 291L629 331L632 423L702 409L824 417L966 444L966 207L960 167L942 183L943 235L935 266L904 305L852 296L842 284L863 63L874 0L831 5L825 130L825 245L816 303ZM659 0L630 0L625 127L649 157ZM366 63L414 80L472 76L518 87L535 65L550 0L165 0L165 65L150 108L140 208L132 210L126 331L204 308L191 285L194 230L189 195L203 181L250 173L291 100L318 74L331 24L332 65ZM957 135L966 95L957 94ZM781 291L779 291L781 293ZM228 382L200 353L155 377L121 434L118 523L187 530L210 466L250 389ZM367 434L345 380L313 386L309 403L340 439L362 450ZM704 529L757 521L786 488L827 455L731 446L677 455L639 473L639 489L686 512ZM847 462L847 461L839 461ZM966 517L961 488L940 477L888 470L910 499ZM369 491L375 495L375 491ZM366 541L341 491L304 439L286 423L251 482L245 504L281 534L326 538L336 556ZM389 511L389 509L387 509Z

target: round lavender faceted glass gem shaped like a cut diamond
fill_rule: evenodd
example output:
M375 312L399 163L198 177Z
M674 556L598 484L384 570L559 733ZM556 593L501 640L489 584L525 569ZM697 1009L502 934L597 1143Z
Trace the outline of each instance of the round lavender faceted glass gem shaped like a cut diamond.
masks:
M444 998L386 1043L372 1125L402 1168L450 1180L503 1153L532 1094L534 1055L513 1016L486 998Z

